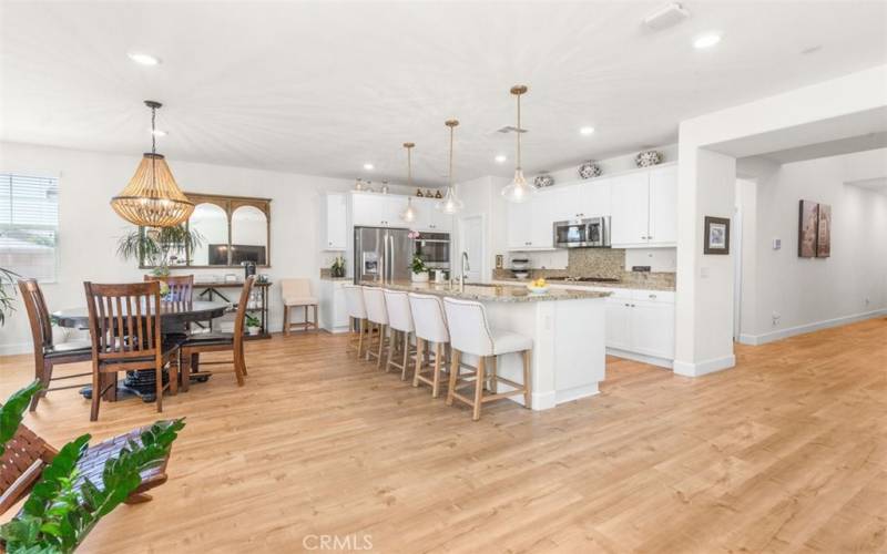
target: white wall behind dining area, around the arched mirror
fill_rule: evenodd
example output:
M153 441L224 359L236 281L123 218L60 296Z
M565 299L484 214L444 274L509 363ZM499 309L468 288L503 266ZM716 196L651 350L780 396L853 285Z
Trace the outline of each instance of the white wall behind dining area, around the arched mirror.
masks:
M51 310L83 306L83 281L141 280L144 270L116 257L116 239L131 226L109 205L129 182L139 155L121 156L73 150L0 143L0 171L59 175L58 281L43 286ZM334 179L241 167L176 162L170 167L187 192L272 198L271 261L262 269L272 279L316 278L323 255L317 249L320 194L351 188L350 179ZM196 269L194 274L224 274ZM232 269L231 273L239 273ZM271 329L279 330L279 287L271 293ZM23 309L0 327L0 353L28 351L30 331Z

